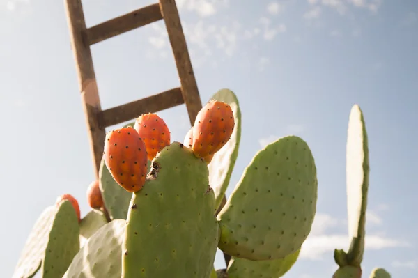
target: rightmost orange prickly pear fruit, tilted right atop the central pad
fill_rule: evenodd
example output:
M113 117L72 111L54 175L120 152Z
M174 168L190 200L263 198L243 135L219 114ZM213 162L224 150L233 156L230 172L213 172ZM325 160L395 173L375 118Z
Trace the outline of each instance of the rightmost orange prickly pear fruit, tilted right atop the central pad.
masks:
M192 150L196 157L214 155L231 137L235 120L231 106L210 100L196 116Z

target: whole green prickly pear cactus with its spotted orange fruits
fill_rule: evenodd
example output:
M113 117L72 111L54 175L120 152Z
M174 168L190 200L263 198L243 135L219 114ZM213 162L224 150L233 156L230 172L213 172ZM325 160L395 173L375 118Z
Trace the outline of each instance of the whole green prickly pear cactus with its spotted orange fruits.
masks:
M224 111L212 113L213 105ZM185 134L184 145L166 138L150 157L138 133L146 115L107 133L98 178L101 206L87 194L91 211L79 219L77 200L60 196L34 224L13 278L36 272L42 278L282 277L296 262L316 214L318 180L308 144L286 136L260 150L221 209L240 145L236 95L227 89L215 93ZM228 127L221 127L226 120ZM215 128L208 130L211 125ZM334 251L339 265L334 278L361 277L364 253L369 158L358 106L351 111L349 127L351 246L347 253ZM121 142L128 150L111 145ZM129 175L123 179L120 173ZM132 180L132 174L139 179ZM225 270L213 267L217 248L231 256ZM372 275L390 277L382 269Z

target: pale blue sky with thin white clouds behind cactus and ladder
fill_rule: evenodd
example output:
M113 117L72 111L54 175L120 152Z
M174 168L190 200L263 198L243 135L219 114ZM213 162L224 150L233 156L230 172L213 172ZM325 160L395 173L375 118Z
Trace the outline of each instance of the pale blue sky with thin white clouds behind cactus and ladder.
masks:
M84 0L87 26L155 0ZM346 137L354 104L369 134L364 277L418 277L418 1L177 0L201 100L235 92L242 139L227 195L251 158L295 134L318 169L314 226L286 278L331 277L349 245ZM57 196L90 208L93 167L63 1L0 0L1 277ZM102 108L179 86L164 22L91 47ZM158 113L183 141L185 105ZM121 124L122 125L122 124ZM116 125L111 128L120 127ZM219 254L218 254L219 255ZM216 268L224 268L217 256Z

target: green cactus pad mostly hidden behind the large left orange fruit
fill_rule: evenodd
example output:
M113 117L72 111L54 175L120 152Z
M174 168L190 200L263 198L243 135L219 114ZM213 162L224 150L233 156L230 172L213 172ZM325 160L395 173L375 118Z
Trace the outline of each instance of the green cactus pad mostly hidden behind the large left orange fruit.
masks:
M148 170L150 170L150 165L151 162L148 160ZM116 183L116 180L111 176L109 169L107 169L104 163L104 158L100 162L99 187L110 219L126 219L132 193L127 192L121 185Z

